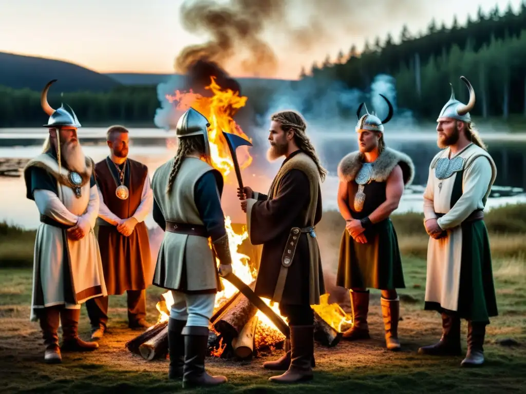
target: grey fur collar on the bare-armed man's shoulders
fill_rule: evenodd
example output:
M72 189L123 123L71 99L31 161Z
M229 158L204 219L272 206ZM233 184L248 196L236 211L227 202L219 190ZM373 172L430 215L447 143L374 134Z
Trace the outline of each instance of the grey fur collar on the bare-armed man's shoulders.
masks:
M351 182L361 168L363 153L351 152L341 159L338 164L338 178L343 182ZM402 152L391 148L385 148L376 160L372 168L372 178L377 182L385 182L389 174L400 164L403 173L403 183L408 186L414 178L414 164L411 158Z

